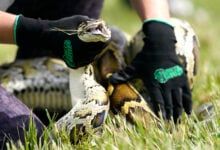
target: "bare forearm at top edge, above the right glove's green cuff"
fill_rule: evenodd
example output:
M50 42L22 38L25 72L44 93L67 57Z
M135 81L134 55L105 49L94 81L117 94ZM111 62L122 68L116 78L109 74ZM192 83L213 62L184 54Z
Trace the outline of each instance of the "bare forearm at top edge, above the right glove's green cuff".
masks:
M169 20L167 0L130 0L142 21L151 18Z

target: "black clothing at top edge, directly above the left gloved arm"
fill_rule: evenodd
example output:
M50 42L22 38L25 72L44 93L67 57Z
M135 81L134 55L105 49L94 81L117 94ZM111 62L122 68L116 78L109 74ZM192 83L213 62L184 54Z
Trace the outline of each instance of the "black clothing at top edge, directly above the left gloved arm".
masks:
M55 20L76 14L98 18L103 0L15 0L8 12Z

